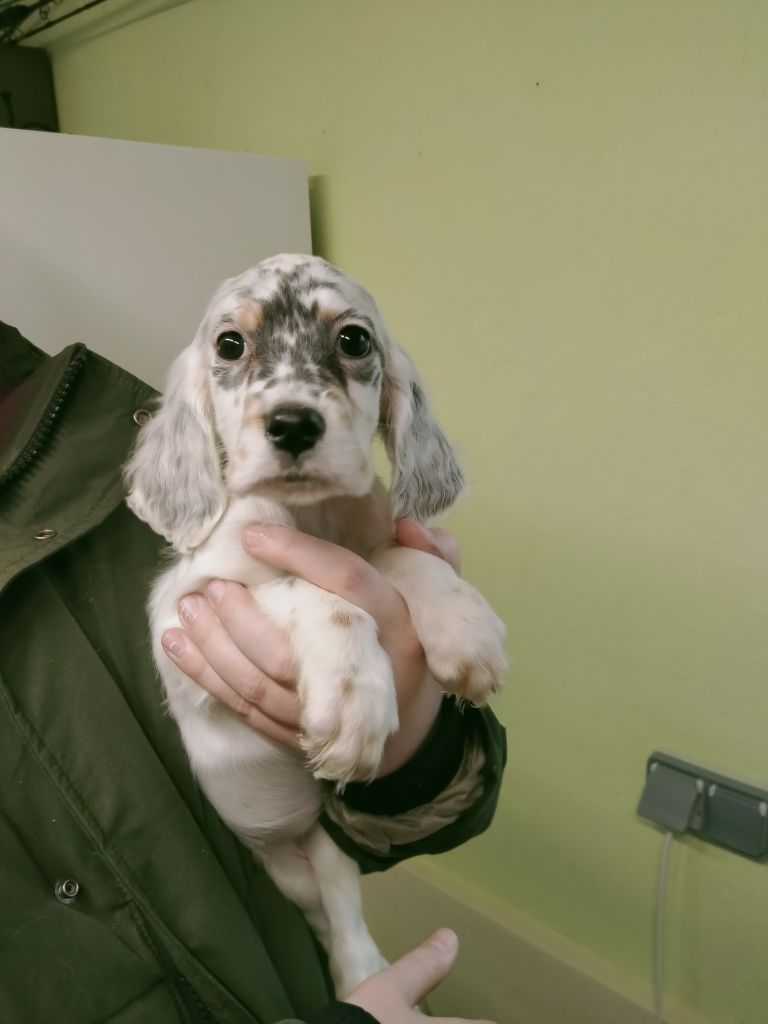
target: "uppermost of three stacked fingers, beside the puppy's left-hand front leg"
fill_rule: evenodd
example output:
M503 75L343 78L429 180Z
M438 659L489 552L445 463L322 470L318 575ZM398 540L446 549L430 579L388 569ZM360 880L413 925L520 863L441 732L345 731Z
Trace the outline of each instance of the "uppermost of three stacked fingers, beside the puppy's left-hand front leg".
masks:
M239 583L213 580L205 589L216 616L245 656L264 675L293 686L296 668L286 633Z

